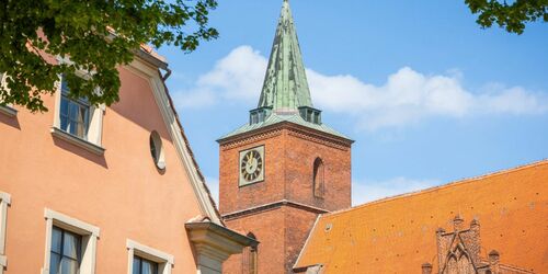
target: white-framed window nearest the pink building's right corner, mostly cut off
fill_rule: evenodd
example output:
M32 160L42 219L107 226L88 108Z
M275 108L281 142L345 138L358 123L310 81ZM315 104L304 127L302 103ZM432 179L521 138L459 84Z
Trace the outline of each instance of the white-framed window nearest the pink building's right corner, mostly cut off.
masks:
M128 274L171 274L173 255L127 240Z

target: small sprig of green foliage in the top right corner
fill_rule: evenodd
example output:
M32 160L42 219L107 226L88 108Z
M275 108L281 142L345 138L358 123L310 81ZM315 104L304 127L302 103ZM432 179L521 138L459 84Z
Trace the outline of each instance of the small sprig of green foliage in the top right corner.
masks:
M527 22L548 22L548 0L465 0L465 2L473 14L479 13L476 22L482 27L491 27L496 23L510 33L522 34Z

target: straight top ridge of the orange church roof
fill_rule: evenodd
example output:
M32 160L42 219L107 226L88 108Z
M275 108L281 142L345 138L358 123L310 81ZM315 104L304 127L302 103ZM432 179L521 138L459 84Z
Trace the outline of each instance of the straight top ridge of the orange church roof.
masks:
M419 191L413 191L413 192L398 194L398 195L395 195L395 196L384 197L384 198L380 198L380 199L367 202L365 204L353 206L353 207L350 207L350 208L344 208L344 209L340 209L340 210L327 213L327 214L323 214L322 217L339 215L339 214L343 214L343 213L347 213L347 212L353 212L353 210L357 210L357 209L361 209L361 208L364 208L364 207L367 207L367 206L373 206L373 205L377 205L377 204L381 204L381 203L387 203L387 202L390 202L390 201L393 201L393 199L407 198L407 197L415 196L415 195L419 195L419 194L430 193L430 192L433 192L433 191L438 191L438 190L448 189L448 187L455 187L455 186L459 186L459 185L463 185L463 184L472 183L472 182L476 182L476 181L479 181L479 180L482 180L482 179L486 179L486 178L500 176L500 175L510 174L510 173L514 173L514 172L517 172L517 171L521 171L521 170L530 169L530 168L535 168L535 167L539 167L539 165L545 165L545 164L548 164L548 159L543 159L543 160L534 161L534 162L530 162L530 163L521 164L521 165L517 165L517 167L514 167L514 168L509 168L509 169L503 169L503 170L499 170L499 171L486 173L486 174L482 174L482 175L477 175L477 176L471 176L471 178L465 178L465 179L461 179L461 180L458 180L458 181L452 181L452 182L448 182L446 184L436 185L436 186L427 187L427 189L424 189L424 190L419 190Z

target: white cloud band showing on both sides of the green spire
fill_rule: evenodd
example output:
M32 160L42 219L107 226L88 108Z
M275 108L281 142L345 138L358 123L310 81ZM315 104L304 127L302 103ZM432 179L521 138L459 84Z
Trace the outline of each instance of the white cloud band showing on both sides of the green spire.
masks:
M240 46L202 76L195 89L178 92L180 107L204 107L220 102L252 105L259 99L266 58ZM534 115L548 112L548 96L522 87L488 84L480 92L463 87L461 72L426 76L403 67L383 85L349 76L324 76L307 69L313 102L320 109L353 116L361 128L402 127L429 117Z

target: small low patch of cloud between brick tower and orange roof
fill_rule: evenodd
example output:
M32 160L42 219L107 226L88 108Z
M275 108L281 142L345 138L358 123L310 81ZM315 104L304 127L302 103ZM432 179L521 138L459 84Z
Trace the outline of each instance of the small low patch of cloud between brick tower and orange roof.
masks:
M424 190L438 184L438 180L411 180L401 176L386 181L365 180L361 182L354 180L352 183L352 205L356 206L366 202Z

